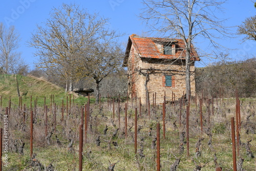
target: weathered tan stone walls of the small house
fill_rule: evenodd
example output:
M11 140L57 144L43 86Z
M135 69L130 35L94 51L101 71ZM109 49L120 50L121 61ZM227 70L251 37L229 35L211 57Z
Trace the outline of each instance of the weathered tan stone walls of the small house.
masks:
M132 35L130 39L138 36ZM139 37L141 38L141 37ZM178 42L178 41L177 41ZM176 42L176 44L177 44ZM129 45L130 44L130 45ZM157 57L143 57L140 49L137 47L142 47L141 45L135 45L136 41L129 42L129 48L125 59L125 64L128 69L129 77L129 94L130 98L141 97L141 102L144 104L146 102L146 89L148 90L150 100L153 99L153 94L156 94L156 103L160 104L163 102L164 94L166 100L172 100L173 93L175 98L180 98L183 93L186 92L185 85L185 60L184 58L157 58ZM149 43L148 43L149 44ZM158 53L163 53L163 45L154 42L155 49ZM152 45L151 45L152 46ZM177 46L177 45L173 45ZM143 47L142 47L143 48ZM146 51L146 49L145 49ZM177 49L173 48L173 53L177 54ZM170 55L165 55L170 56ZM172 55L174 56L174 55ZM194 61L190 67L190 85L191 85L191 95L195 94L195 77L194 77ZM165 75L169 75L172 78L172 86L165 85Z

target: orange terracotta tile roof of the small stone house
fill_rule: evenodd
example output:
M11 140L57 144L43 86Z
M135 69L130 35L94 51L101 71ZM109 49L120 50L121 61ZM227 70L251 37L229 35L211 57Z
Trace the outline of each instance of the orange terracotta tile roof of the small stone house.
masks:
M165 55L159 51L156 44L163 45L169 42L175 44L176 53L175 55ZM129 40L126 47L124 65L127 63L127 59L130 54L130 50L134 45L137 53L142 58L158 58L158 59L185 59L185 45L182 39L171 39L171 38L155 38L155 37L139 37L135 34L129 36ZM191 60L200 60L195 48L192 45Z

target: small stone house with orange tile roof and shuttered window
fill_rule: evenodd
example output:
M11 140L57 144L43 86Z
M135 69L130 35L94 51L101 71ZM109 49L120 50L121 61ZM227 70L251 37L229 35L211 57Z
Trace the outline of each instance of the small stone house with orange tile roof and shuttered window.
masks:
M123 67L127 67L130 98L146 98L160 104L180 98L186 92L185 50L182 39L129 36ZM192 46L191 95L195 95L195 61L200 60Z

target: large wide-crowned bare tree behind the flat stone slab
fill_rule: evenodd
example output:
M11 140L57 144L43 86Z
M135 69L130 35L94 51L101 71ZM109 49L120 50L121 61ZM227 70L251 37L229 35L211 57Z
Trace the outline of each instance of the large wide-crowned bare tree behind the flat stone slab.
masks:
M32 34L30 46L39 56L38 68L52 68L50 74L58 75L68 82L70 91L78 79L81 54L86 54L101 39L108 19L98 14L89 14L75 4L62 4L54 8L44 27L37 26ZM84 60L84 59L83 59ZM89 61L88 61L89 62ZM88 75L84 73L84 75Z

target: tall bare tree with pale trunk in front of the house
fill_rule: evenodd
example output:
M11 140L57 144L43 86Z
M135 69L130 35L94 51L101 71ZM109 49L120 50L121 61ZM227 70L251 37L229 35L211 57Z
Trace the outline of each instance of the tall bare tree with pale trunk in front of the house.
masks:
M141 17L152 31L167 35L169 38L181 38L185 42L185 79L186 94L190 94L190 64L192 44L197 37L208 40L214 48L220 47L216 38L226 36L223 20L215 14L222 12L224 1L200 0L143 0L146 6ZM216 34L217 33L217 34ZM188 98L188 96L186 96Z

